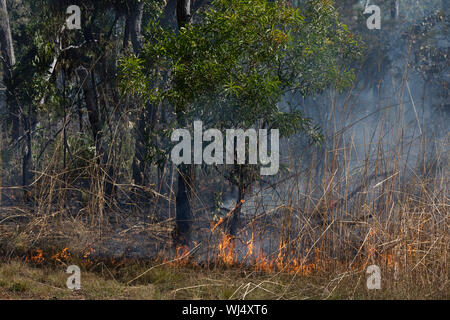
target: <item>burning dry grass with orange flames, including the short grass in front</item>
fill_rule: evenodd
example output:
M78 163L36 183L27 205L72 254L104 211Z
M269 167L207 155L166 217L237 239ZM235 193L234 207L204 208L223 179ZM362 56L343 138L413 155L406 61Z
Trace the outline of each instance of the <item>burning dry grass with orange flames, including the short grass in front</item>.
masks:
M85 298L137 297L133 290L142 289L148 293L143 298L169 299L448 299L449 137L438 141L423 134L414 140L413 164L403 128L394 131L389 133L394 141L383 141L380 131L377 143L362 146L355 145L353 136L334 133L322 153L307 159L290 154L284 161L289 163L287 176L265 190L255 187L238 204L246 218L234 237L221 230L227 217L208 229L210 207L196 201L196 223L206 221L207 235L171 254L166 249L171 246L173 190L169 196L140 190L152 195L151 203L143 210L136 209L139 203L124 208L106 198L107 175L95 163L78 170L90 179L89 190L63 181L70 172L58 171L55 151L35 183L32 205L1 209L5 263L0 268L6 276L0 280L0 296L34 297L40 295L35 288L48 288L51 294L43 297L70 298L63 268L75 263L92 277L93 285L83 289ZM133 203L130 194L136 188L117 185L117 197ZM264 192L283 197L265 207L263 195L258 207L251 198ZM78 200L69 205L68 199ZM164 201L167 206L158 205ZM143 222L137 213L146 210L150 215L159 210L159 222ZM149 239L158 245L144 247ZM102 256L99 251L108 240L114 246ZM119 245L138 248L144 259L130 259L126 250L111 254ZM9 262L12 257L27 264ZM152 263L141 262L155 257ZM379 291L366 288L366 269L372 264L382 271ZM11 269L16 276L8 276ZM47 283L46 275L58 280Z

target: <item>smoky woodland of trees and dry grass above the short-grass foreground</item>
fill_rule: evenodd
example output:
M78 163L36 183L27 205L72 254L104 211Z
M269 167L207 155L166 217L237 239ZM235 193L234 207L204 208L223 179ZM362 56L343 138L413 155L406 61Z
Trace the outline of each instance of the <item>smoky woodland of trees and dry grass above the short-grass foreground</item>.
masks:
M164 235L135 251L413 259L448 282L448 1L0 0L0 17L0 221L24 221L4 235L25 250L62 230L100 251L64 221L95 239L138 225ZM174 165L195 120L279 129L279 173Z

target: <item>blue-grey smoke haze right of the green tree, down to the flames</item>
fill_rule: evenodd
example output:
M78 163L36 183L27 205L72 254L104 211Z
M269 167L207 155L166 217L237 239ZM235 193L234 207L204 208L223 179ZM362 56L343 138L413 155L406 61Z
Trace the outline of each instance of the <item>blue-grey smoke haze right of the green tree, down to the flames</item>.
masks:
M253 186L242 207L248 219L275 216L282 208L293 207L297 209L293 229L307 225L320 236L326 221L317 209L324 199L334 203L327 208L333 216L328 219L343 221L365 219L365 215L372 218L371 213L363 212L362 205L379 203L382 207L377 199L391 183L402 188L419 177L435 179L436 191L448 194L450 101L442 94L443 83L448 83L448 60L447 71L439 74L440 81L429 82L414 70L412 43L405 37L411 25L438 9L439 4L416 11L415 17L406 16L401 24L384 24L378 36L386 44L385 64L374 67L377 61L367 57L350 90L326 90L305 99L285 98L282 105L297 106L320 125L325 142L311 146L302 135L283 140L280 166L287 170L277 179L263 179ZM441 28L448 25L435 27L435 40L448 50L448 35ZM370 70L377 72L371 74ZM406 190L398 190L402 191ZM228 208L235 205L235 197L226 199ZM307 216L307 206L311 205L317 205L316 212ZM274 236L277 229L269 229L261 237L261 246L275 255L279 250ZM357 228L352 232L363 235Z

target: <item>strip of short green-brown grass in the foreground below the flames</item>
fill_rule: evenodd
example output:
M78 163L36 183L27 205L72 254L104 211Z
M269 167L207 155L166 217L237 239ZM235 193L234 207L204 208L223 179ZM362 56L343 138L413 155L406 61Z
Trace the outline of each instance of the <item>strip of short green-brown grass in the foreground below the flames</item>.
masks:
M150 269L150 270L149 270ZM384 279L381 290L366 289L363 272L299 276L242 268L133 263L82 268L80 291L66 288L64 265L19 260L0 264L0 299L449 299L447 283ZM146 272L147 271L147 272ZM146 272L146 273L145 273ZM144 274L145 273L145 274ZM130 283L130 280L141 275ZM415 289L417 288L417 289ZM420 290L419 290L420 288Z

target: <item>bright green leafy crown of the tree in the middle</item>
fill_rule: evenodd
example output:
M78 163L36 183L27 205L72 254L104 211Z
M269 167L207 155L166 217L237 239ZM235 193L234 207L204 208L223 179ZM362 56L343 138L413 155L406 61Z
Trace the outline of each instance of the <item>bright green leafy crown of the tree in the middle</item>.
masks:
M185 123L200 117L216 128L263 125L317 141L318 128L298 111L282 111L282 98L347 86L348 62L359 54L330 1L300 10L284 1L216 0L178 33L152 25L140 57L122 60L122 89L168 103Z

